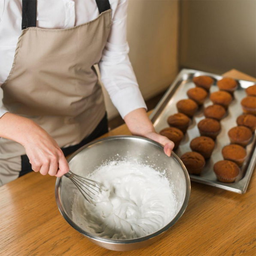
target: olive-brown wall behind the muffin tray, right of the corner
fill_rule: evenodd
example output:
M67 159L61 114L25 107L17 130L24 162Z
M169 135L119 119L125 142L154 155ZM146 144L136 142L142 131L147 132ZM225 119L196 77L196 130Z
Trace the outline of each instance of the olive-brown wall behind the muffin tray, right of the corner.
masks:
M180 2L180 66L256 76L256 1Z

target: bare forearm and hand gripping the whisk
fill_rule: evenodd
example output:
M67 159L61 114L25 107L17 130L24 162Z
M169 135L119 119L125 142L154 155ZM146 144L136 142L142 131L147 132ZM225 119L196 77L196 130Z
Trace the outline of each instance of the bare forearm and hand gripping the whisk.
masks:
M4 114L0 118L0 137L23 145L35 172L60 177L69 171L57 142L28 118L12 113Z

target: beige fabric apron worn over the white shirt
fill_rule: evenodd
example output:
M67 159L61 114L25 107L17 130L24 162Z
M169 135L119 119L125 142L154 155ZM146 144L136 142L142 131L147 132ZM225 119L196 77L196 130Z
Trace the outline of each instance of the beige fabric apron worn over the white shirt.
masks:
M88 136L105 114L95 64L111 27L111 9L69 29L28 27L18 39L12 70L2 84L3 108L38 123L60 148ZM18 177L17 142L0 141L0 185Z

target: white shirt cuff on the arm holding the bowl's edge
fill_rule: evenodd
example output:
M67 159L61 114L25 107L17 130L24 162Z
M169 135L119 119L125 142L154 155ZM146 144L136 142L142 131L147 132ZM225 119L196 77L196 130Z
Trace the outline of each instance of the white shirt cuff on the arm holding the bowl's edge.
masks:
M138 108L145 108L147 111L147 106L137 85L130 85L123 88L111 97L111 101L122 118Z

